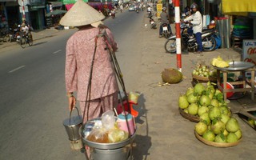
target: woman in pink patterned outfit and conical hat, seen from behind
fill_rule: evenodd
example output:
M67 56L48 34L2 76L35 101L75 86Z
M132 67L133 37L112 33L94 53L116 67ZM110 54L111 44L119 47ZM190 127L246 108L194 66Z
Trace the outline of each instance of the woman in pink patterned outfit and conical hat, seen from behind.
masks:
M84 123L88 119L100 117L107 110L113 110L118 104L118 85L106 47L114 51L118 48L107 27L103 27L107 45L106 37L98 37L102 27L97 26L104 18L102 13L78 0L60 21L62 26L78 27L78 31L66 42L65 78L69 108L74 109L74 92L77 92Z

